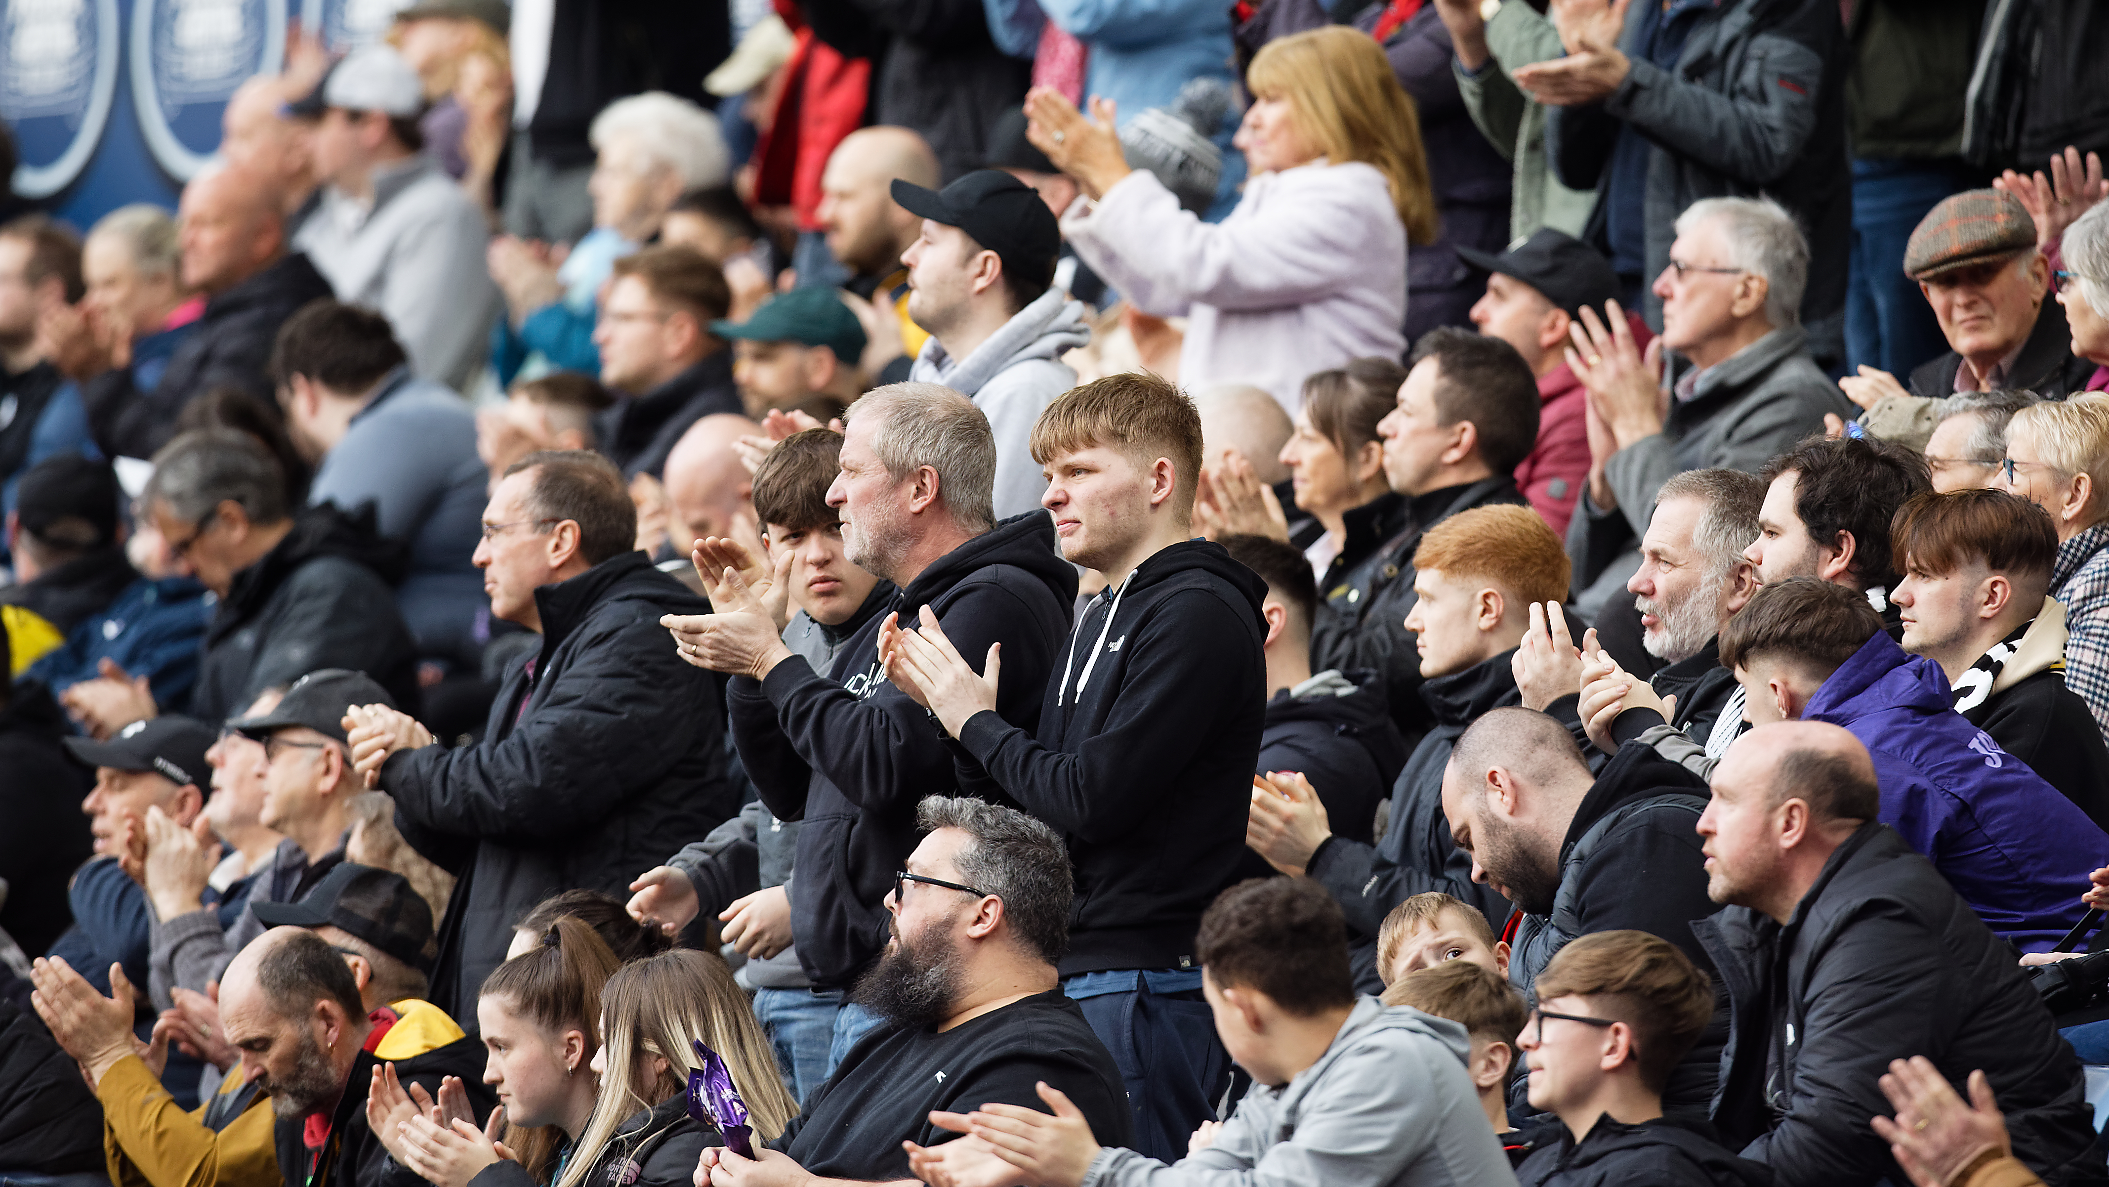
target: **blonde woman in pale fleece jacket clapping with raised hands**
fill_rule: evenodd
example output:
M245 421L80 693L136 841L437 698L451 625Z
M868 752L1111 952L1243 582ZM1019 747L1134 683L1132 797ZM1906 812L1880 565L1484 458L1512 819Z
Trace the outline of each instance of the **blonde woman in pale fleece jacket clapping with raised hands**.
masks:
M1303 377L1405 354L1407 240L1436 236L1419 118L1369 34L1268 42L1238 137L1251 179L1221 223L1128 169L1114 105L1084 118L1025 97L1027 139L1084 192L1063 215L1078 255L1145 314L1185 316L1179 382L1255 384L1297 411Z

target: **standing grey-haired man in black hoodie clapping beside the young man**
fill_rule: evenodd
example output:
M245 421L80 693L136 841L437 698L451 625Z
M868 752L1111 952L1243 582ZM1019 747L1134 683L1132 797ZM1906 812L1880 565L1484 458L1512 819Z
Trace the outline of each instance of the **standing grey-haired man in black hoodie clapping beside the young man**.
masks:
M1046 514L995 523L993 485L989 417L951 388L892 384L850 409L827 502L841 512L850 563L898 586L890 609L936 607L976 656L1004 643L1019 681L998 713L1031 727L1076 569L1054 552ZM962 772L930 713L888 683L879 620L825 675L785 645L791 550L761 573L742 548L704 540L696 565L717 614L662 622L690 664L732 673L732 740L747 776L774 816L801 820L791 881L799 966L816 989L850 989L886 945L886 894L915 850L915 805L981 776ZM846 1006L829 1063L875 1023Z

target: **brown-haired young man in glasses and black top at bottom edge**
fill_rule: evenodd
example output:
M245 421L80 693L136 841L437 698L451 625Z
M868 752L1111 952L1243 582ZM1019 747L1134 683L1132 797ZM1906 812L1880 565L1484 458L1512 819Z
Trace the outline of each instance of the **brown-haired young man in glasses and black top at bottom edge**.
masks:
M1662 1115L1670 1071L1715 1014L1713 978L1647 932L1597 932L1537 974L1516 1046L1531 1107L1561 1120L1516 1168L1523 1187L1772 1187L1765 1166Z

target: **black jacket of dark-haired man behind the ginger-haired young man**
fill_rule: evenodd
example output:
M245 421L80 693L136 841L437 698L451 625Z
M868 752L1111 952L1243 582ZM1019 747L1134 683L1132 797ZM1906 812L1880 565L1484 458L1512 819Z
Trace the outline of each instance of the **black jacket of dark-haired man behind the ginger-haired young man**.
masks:
M1320 597L1318 622L1312 626L1312 668L1371 668L1384 675L1384 696L1392 704L1392 721L1407 742L1426 734L1434 719L1421 702L1421 658L1407 630L1413 609L1413 550L1421 533L1445 519L1476 506L1527 504L1514 479L1497 474L1462 487L1443 487L1405 500L1405 508L1375 510L1375 523L1390 538L1369 550L1360 563L1343 571L1329 569ZM1371 502L1377 508L1384 500ZM1362 510L1362 508L1358 508ZM1354 512L1350 512L1354 514ZM1350 548L1356 544L1350 523Z

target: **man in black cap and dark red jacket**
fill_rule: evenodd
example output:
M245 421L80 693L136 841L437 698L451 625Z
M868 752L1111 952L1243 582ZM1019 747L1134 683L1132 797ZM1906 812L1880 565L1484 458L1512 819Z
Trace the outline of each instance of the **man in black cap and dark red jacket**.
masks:
M1516 485L1565 533L1575 500L1588 481L1588 388L1567 367L1571 327L1582 310L1601 310L1618 297L1618 272L1597 249L1571 234L1544 228L1508 251L1459 247L1457 255L1487 272L1487 295L1472 306L1472 325L1487 337L1516 348L1537 375L1537 445L1516 466ZM1643 350L1653 333L1639 312L1626 312L1632 339Z

